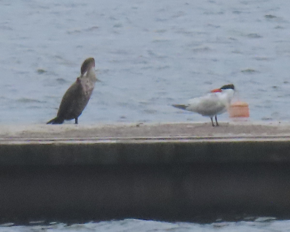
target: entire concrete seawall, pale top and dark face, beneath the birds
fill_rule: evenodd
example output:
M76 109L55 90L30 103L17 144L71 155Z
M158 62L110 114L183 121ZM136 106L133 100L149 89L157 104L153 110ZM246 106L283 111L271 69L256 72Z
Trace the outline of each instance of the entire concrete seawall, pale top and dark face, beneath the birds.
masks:
M286 123L3 127L0 219L290 218Z

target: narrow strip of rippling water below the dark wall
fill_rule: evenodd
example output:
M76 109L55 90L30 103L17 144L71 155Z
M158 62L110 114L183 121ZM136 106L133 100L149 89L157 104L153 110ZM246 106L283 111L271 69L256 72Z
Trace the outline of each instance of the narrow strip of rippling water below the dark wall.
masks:
M257 218L254 221L240 221L240 222L215 222L211 224L196 224L188 222L157 222L137 219L125 219L119 221L107 222L89 222L85 224L67 225L62 223L52 222L50 225L31 225L31 226L11 226L6 224L0 226L0 232L59 232L59 231L106 231L106 232L152 232L152 231L172 231L172 232L278 232L290 231L290 221L279 221L274 218Z

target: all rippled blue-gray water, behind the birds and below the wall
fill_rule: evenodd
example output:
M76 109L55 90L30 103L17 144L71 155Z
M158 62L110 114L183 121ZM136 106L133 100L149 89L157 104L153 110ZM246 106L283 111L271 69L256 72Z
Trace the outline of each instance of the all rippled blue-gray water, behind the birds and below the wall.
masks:
M290 119L290 1L0 0L0 123L55 117L82 61L98 82L80 124L208 122L171 104L235 84L251 121ZM221 121L229 121L227 114ZM73 123L73 121L66 122ZM0 231L289 231L290 222L121 220Z

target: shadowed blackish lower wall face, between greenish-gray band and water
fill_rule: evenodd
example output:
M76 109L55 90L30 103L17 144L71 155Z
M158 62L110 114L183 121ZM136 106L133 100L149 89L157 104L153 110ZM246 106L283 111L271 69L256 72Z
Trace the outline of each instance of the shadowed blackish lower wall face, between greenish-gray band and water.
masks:
M290 218L290 164L6 166L1 221Z

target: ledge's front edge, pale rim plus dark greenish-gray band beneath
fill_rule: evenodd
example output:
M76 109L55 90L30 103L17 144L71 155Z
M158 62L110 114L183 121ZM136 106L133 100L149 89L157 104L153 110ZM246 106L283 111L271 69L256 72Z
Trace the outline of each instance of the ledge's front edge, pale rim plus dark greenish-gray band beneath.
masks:
M0 166L290 162L290 137L6 141Z

